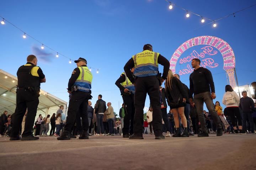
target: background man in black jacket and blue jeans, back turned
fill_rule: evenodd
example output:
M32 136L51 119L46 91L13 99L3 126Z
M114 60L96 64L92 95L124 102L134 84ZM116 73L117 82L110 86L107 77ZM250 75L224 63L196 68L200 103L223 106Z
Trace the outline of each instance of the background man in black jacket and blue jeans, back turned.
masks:
M104 126L103 126L103 118L104 112L107 110L106 102L102 100L102 95L98 95L98 100L95 104L95 113L97 116L97 134L95 136L104 135Z

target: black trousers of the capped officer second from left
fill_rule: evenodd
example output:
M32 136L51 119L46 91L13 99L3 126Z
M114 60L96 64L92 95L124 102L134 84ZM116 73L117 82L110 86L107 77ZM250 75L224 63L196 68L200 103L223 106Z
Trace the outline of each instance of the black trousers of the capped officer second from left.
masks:
M75 124L76 115L80 113L82 118L82 129L87 131L89 128L87 106L90 94L84 91L75 91L69 100L68 117L65 124L65 130L71 132Z

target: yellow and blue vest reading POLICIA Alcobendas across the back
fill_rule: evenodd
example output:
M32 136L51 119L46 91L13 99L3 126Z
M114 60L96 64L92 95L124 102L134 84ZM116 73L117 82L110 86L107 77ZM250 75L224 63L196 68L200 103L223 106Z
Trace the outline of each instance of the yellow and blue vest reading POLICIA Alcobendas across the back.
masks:
M132 58L134 61L134 75L137 77L146 77L158 74L158 56L159 53L144 50L135 54Z

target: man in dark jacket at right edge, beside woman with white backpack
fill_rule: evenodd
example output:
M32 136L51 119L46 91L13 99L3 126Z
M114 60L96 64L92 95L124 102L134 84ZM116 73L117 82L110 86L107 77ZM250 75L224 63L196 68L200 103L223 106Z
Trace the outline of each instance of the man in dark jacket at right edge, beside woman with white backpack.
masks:
M251 126L251 133L254 134L254 122L253 122L253 118L252 118L252 113L253 113L253 109L254 109L254 101L252 100L252 98L247 96L247 92L243 91L242 92L242 98L240 98L240 104L239 104L239 108L242 110L242 130L243 133L246 131L246 121L247 119L250 122L250 126Z

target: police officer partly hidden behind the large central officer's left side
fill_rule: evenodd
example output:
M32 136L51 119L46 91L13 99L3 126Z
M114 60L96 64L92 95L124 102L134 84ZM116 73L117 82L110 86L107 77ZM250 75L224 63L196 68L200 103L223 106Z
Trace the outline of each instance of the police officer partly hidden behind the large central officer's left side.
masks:
M131 72L134 72L134 68L131 69ZM128 138L133 134L133 118L134 118L134 93L135 87L126 76L126 73L123 72L116 83L117 87L121 90L121 95L123 97L124 107L125 107L125 116L124 116L124 126L123 126L123 137ZM131 122L131 126L130 126ZM129 134L130 127L130 134Z

